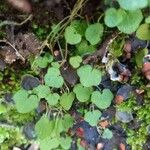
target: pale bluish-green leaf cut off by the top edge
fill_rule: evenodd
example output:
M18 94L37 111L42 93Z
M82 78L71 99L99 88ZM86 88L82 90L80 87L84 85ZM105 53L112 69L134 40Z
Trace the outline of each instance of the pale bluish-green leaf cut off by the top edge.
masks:
M148 6L147 0L118 0L118 2L125 10L137 10Z

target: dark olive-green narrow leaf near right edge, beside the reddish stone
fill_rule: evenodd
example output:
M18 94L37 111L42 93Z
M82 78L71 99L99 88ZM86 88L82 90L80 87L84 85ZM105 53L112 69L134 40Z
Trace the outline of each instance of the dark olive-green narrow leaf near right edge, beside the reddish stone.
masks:
M143 66L143 58L145 55L148 54L148 49L142 49L142 50L139 50L136 54L135 54L135 62L137 64L137 66L139 68L142 68Z

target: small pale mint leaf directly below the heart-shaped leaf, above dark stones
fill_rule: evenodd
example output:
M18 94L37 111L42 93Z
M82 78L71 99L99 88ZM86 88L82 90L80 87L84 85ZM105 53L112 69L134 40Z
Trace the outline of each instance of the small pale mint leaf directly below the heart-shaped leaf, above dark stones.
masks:
M99 110L94 110L94 111L86 112L85 116L84 116L84 119L91 126L96 126L100 117L101 117L101 112Z

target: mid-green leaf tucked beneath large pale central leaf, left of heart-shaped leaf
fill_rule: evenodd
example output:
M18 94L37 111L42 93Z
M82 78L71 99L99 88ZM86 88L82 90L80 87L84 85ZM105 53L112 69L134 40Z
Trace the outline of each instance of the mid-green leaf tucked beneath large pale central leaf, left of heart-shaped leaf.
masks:
M76 97L80 102L88 101L90 99L92 91L92 87L84 87L81 84L75 85L73 89L73 92L76 94Z

